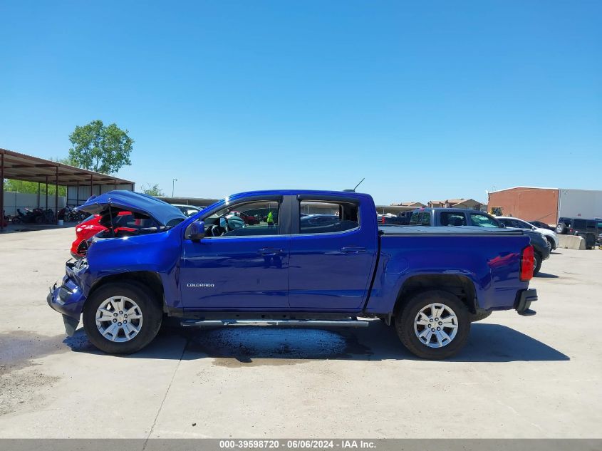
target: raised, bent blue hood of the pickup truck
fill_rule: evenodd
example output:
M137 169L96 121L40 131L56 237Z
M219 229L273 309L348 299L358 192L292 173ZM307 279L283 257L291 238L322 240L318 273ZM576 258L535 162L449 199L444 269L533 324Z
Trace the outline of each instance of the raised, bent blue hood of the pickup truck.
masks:
M100 196L92 196L85 204L76 207L90 214L101 214L103 216L110 212L133 212L145 214L162 227L175 225L187 219L184 213L176 207L149 195L140 192L125 190L113 190L105 192Z

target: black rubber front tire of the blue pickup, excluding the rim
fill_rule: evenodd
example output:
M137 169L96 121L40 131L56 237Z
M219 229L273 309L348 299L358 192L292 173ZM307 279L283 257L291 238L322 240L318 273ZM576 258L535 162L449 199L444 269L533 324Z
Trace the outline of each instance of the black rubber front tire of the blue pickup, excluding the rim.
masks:
M133 300L142 313L142 325L136 336L129 341L115 342L105 338L96 326L96 311L100 304L112 296L125 296ZM100 351L109 354L130 354L147 346L159 332L162 310L157 296L142 284L118 282L106 284L94 291L83 307L83 328L88 338Z

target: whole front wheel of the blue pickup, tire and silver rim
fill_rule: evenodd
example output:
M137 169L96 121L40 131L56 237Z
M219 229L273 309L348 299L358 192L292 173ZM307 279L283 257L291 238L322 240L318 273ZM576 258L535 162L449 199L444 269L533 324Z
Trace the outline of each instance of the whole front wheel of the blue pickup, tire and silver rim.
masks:
M155 296L135 282L119 282L94 291L83 308L83 328L100 351L130 354L157 335L162 311Z

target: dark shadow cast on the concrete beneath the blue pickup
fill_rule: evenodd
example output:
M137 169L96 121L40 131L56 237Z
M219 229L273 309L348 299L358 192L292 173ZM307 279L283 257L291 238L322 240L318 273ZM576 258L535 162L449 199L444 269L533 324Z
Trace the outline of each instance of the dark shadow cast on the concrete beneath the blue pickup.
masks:
M82 333L83 331L78 331ZM67 338L65 343L73 338ZM82 344L81 337L76 343ZM73 351L99 353L90 346ZM234 327L172 328L126 358L192 361L213 358L217 366L281 366L318 360L421 360L400 343L393 327L378 320L368 328L301 329ZM453 362L569 361L551 346L507 326L474 323L466 348Z

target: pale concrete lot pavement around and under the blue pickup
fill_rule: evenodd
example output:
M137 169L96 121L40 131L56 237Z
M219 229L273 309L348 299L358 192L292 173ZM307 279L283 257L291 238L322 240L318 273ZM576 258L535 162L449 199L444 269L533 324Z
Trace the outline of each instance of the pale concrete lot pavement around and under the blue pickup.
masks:
M0 235L0 437L602 437L602 252L561 249L537 315L474 323L451 361L360 330L162 331L134 356L46 305L73 229Z

